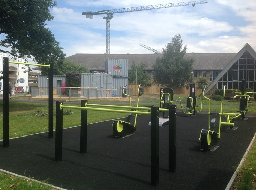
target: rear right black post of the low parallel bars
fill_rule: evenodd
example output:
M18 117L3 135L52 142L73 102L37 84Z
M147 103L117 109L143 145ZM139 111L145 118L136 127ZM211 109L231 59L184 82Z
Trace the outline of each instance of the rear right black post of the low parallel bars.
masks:
M176 105L169 105L169 172L176 172Z

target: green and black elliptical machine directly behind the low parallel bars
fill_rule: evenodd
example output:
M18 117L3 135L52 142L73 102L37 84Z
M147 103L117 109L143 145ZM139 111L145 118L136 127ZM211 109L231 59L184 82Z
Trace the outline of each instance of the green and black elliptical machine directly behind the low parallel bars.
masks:
M129 97L129 107L131 107L131 96L125 93L125 88L126 85L123 88L123 94L125 96ZM139 106L139 90L140 90L140 85L138 87L138 99L137 99L137 107ZM136 108L133 111L138 111ZM126 121L122 120L115 120L112 123L112 128L113 128L113 135L115 138L118 137L124 137L127 135L132 134L134 131L136 131L136 120L137 120L137 114L135 114L135 120L134 120L134 125L131 124L131 118L133 114L129 113Z

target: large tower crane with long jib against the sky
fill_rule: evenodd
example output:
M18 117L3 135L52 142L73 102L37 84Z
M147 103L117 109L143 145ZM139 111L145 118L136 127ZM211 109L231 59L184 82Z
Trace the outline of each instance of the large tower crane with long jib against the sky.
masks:
M193 2L180 2L180 3L168 3L168 4L158 4L158 5L146 5L140 7L130 7L130 8L122 8L122 9L112 9L112 10L102 10L97 12L83 12L82 15L85 15L87 18L93 18L93 15L106 15L103 19L106 20L106 54L110 54L110 19L113 18L113 14L115 13L126 13L126 12L134 12L134 11L145 11L152 9L162 9L162 8L170 8L170 7L180 7L180 6L195 6L196 4L204 4L207 1L193 1Z

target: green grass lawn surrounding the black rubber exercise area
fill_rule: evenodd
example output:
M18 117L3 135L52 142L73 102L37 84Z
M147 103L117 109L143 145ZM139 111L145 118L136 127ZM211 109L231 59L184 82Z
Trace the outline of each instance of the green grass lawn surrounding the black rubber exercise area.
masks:
M185 95L174 95L174 104L177 105L177 110L181 111L179 97L182 104L185 106ZM15 102L15 99L26 99L25 96L13 97L14 100L9 101L9 137L20 137L23 135L35 134L39 132L48 131L48 103L34 103L28 102ZM134 97L137 99L137 97ZM79 101L80 102L80 101ZM128 106L128 101L119 101L117 99L97 99L90 100L89 103L96 104L111 104L111 105L125 105ZM201 104L201 99L198 100L198 105ZM64 102L65 105L65 102ZM72 106L72 104L69 104ZM132 101L132 106L136 106L137 102ZM139 106L154 105L160 106L160 97L157 95L143 95L139 99ZM55 106L55 105L54 105ZM77 102L73 106L80 106ZM256 101L249 101L248 113L256 114ZM239 102L224 100L223 112L237 113L239 110ZM203 100L202 111L208 111L208 101ZM220 111L220 102L211 100L211 111ZM67 115L63 116L63 127L72 127L80 125L80 110L63 110ZM55 113L55 111L54 111ZM71 114L72 113L72 114ZM46 115L46 116L43 116ZM112 113L112 112L88 112L88 123L95 123L110 119L127 117L125 113ZM0 120L3 119L3 101L0 101ZM55 126L55 117L54 117ZM3 139L3 122L0 122L0 139ZM255 141L246 156L244 164L239 170L238 176L233 183L232 189L255 189L256 188L256 145ZM11 174L0 172L0 189L53 189L42 183L35 183L33 180L15 177ZM22 187L25 185L25 187Z

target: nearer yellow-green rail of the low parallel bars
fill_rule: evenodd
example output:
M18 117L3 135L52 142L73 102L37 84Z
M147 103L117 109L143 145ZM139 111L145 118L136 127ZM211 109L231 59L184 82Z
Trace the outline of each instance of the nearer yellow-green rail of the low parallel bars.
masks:
M96 108L96 107L76 107L76 106L60 105L60 109L62 108L150 115L150 112L140 112L140 111L131 111L131 110L114 110L114 109L104 109L104 108Z

